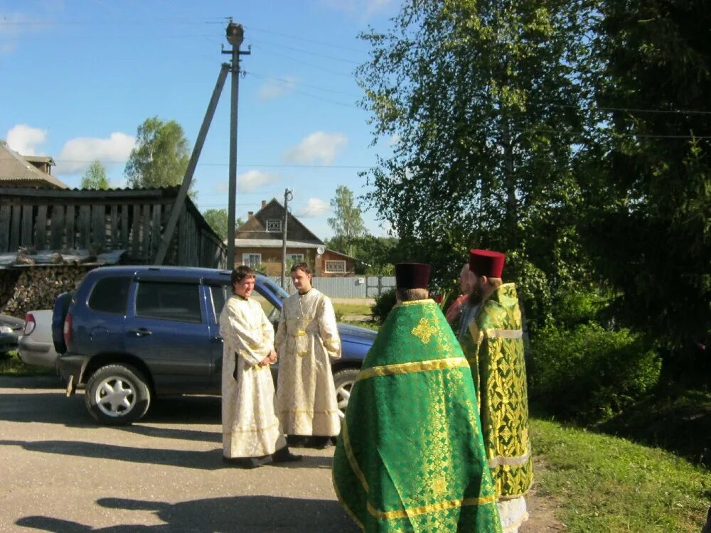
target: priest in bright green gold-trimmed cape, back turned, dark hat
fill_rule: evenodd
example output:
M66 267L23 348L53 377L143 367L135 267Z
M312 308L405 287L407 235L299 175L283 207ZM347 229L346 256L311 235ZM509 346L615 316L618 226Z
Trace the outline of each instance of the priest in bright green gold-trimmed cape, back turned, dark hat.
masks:
M429 299L429 265L396 264L395 279L341 424L338 500L366 532L501 533L471 370Z

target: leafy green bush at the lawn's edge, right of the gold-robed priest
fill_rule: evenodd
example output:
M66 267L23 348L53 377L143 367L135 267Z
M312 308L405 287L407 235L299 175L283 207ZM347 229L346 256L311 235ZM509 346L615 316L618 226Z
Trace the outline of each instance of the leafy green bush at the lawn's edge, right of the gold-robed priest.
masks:
M563 419L599 421L656 385L661 358L629 330L547 328L531 343L530 397Z

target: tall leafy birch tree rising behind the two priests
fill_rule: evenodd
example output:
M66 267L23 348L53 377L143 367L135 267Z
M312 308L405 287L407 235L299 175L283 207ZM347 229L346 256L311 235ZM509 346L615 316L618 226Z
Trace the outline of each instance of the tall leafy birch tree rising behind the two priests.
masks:
M410 0L390 31L362 36L363 104L375 139L395 140L365 173L365 199L435 282L456 279L471 247L507 252L539 321L586 276L572 174L586 13L581 1Z

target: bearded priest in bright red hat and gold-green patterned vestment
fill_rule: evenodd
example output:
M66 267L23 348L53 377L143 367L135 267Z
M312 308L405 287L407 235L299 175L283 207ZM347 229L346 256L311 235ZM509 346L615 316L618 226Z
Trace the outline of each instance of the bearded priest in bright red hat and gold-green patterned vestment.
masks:
M521 311L515 285L501 279L505 260L501 252L469 252L473 288L459 341L474 377L503 532L515 533L528 519L524 495L533 483L533 463Z

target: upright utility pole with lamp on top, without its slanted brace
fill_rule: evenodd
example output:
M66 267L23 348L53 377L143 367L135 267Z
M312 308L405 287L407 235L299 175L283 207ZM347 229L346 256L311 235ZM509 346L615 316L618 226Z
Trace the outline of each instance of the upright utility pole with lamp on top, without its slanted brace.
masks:
M230 17L226 29L228 43L232 50L223 50L223 54L232 54L232 99L230 100L230 198L227 213L227 266L235 268L235 218L237 208L237 98L240 90L240 55L249 55L251 50L242 51L240 45L245 40L245 28L235 24Z

